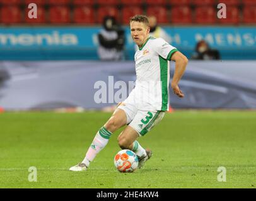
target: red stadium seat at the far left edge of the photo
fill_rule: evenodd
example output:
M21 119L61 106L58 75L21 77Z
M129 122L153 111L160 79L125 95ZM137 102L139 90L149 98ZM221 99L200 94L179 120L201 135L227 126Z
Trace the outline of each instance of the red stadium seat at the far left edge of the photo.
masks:
M21 23L21 10L18 6L3 6L1 8L1 23L15 24Z

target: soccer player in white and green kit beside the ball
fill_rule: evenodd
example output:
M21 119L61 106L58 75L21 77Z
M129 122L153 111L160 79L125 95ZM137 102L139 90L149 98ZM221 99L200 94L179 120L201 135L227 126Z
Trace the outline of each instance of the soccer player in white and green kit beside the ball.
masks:
M129 97L121 102L112 116L96 133L84 160L71 171L84 171L95 156L107 145L110 136L122 126L128 125L118 136L122 149L131 149L139 159L141 168L151 157L152 151L144 149L137 138L146 135L158 124L169 104L170 60L175 62L172 79L172 90L178 97L184 97L178 87L187 66L187 57L178 52L177 48L162 38L149 36L148 18L143 15L133 16L130 20L131 36L139 47L135 53L136 86Z

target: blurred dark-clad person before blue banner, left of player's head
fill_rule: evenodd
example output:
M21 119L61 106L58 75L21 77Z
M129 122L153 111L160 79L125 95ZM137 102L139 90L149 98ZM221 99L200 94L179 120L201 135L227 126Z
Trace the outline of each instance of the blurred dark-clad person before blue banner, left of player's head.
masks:
M124 58L124 30L112 16L106 16L103 19L103 29L98 34L98 41L98 56L100 60L116 61Z

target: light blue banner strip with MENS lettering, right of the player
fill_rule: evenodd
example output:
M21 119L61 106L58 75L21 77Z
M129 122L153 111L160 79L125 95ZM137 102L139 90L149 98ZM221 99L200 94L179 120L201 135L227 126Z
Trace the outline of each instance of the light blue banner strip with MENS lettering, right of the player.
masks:
M213 48L256 48L254 27L173 27L166 28L173 45L194 48L199 40L206 40Z

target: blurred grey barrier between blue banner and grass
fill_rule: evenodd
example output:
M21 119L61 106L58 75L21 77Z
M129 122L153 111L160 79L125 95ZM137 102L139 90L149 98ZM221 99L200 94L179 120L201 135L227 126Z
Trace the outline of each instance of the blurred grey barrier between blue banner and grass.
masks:
M170 90L174 109L256 109L255 61L190 61ZM171 77L174 62L171 62ZM0 62L0 107L4 110L115 107L134 87L134 62Z

